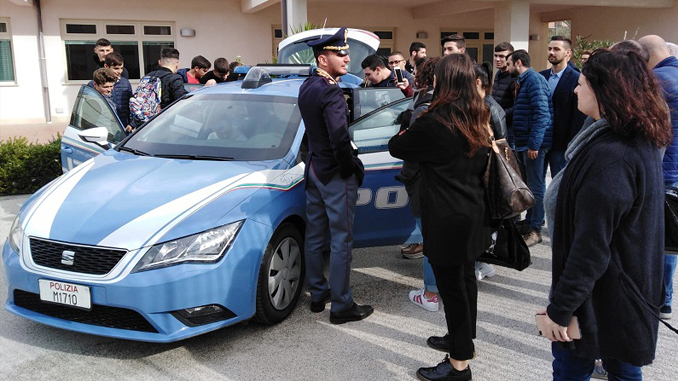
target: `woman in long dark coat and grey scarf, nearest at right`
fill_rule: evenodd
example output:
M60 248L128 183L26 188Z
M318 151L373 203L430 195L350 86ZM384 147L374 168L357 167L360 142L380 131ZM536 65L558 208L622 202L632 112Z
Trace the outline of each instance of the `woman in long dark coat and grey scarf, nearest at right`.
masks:
M544 335L554 380L641 380L655 356L662 299L664 183L672 139L654 75L635 52L591 54L575 89L586 125L565 153L544 204L553 275ZM578 319L581 339L568 331Z

